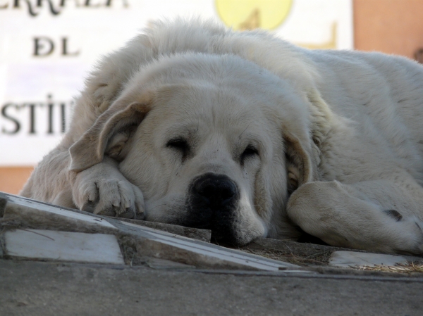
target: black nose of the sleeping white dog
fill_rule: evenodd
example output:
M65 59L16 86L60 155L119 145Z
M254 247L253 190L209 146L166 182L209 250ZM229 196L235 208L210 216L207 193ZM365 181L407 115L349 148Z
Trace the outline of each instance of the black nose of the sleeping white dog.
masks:
M197 178L193 185L193 193L210 207L228 206L236 198L238 189L226 175L206 173Z

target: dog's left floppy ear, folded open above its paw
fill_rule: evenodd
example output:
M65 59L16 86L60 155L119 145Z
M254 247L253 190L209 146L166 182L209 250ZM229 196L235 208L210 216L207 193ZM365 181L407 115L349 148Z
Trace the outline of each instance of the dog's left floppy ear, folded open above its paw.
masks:
M69 148L70 170L80 172L101 163L104 155L123 160L133 134L152 106L152 94L137 101L118 99L97 118L94 125Z

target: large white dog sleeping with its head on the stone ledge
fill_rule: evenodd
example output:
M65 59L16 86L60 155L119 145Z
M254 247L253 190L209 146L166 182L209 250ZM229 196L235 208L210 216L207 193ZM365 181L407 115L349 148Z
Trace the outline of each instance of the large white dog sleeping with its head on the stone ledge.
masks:
M305 231L421 254L422 119L405 58L157 23L97 66L21 194L233 244Z

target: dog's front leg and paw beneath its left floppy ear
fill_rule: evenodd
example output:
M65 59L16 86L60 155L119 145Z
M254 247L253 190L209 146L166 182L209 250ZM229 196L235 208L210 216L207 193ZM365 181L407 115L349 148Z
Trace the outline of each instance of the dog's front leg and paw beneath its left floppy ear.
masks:
M51 151L39 163L20 191L21 196L95 214L142 219L144 199L140 189L119 172L117 163L102 163L82 172L70 172L67 150Z

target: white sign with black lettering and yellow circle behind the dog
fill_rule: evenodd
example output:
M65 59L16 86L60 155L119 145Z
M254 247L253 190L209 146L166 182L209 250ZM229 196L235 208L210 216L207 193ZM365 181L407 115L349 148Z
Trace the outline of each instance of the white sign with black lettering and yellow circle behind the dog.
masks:
M35 165L68 127L102 54L176 15L257 27L322 49L353 49L352 0L0 0L0 166Z

